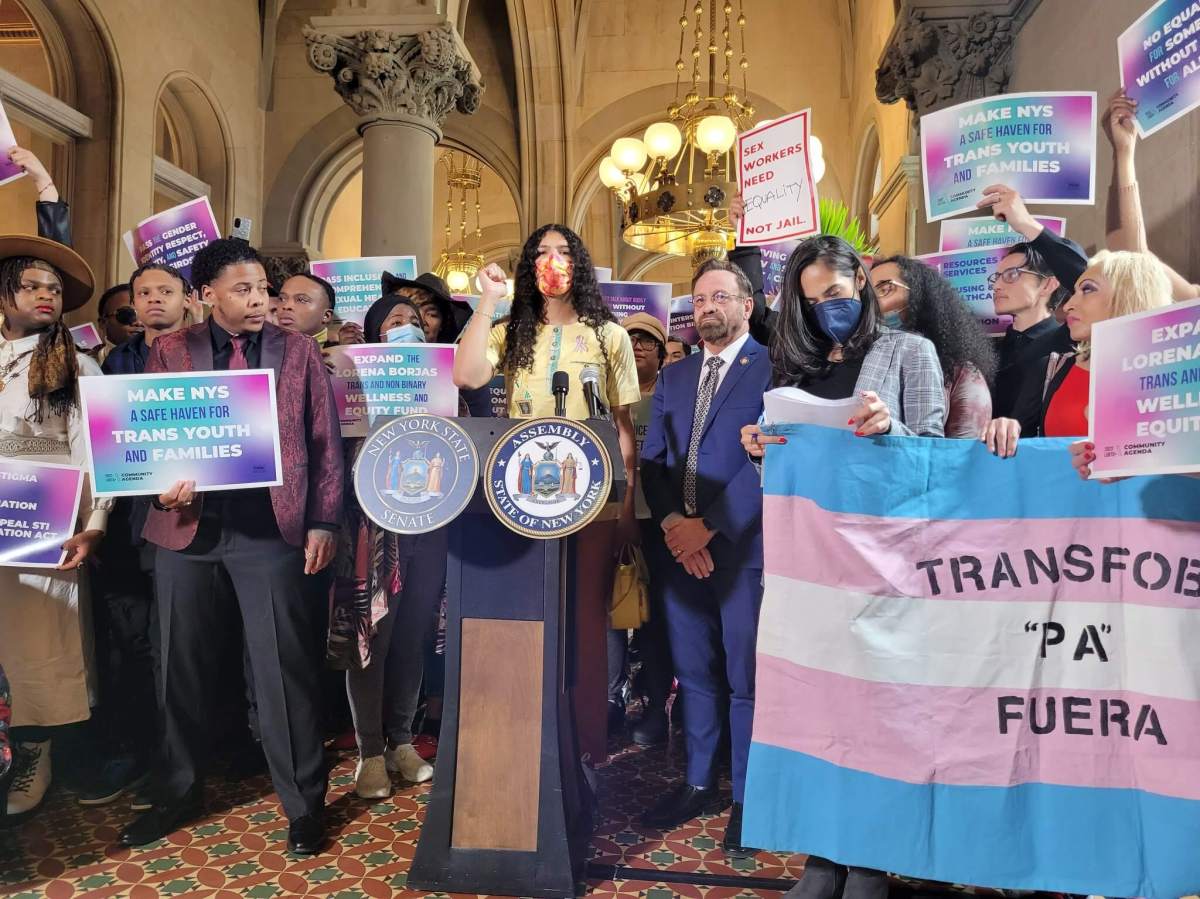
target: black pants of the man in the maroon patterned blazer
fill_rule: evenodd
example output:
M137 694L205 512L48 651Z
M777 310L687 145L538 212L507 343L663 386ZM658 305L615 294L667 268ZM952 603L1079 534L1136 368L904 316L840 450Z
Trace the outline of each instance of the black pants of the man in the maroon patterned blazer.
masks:
M202 783L220 643L236 639L240 615L263 750L283 810L295 820L319 814L325 802L319 709L325 606L307 583L304 551L283 541L264 499L265 491L211 503L216 515L205 516L192 546L158 550L166 724L158 789L170 802ZM224 576L234 597L216 588Z

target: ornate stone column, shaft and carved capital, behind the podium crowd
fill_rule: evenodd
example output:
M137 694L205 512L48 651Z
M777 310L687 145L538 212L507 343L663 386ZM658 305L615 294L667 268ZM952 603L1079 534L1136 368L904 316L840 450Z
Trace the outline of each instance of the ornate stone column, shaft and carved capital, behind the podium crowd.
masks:
M454 26L426 4L386 16L348 4L313 18L304 36L308 62L332 76L359 115L362 254L415 254L418 269L428 271L436 262L433 150L452 109L479 109L479 68Z

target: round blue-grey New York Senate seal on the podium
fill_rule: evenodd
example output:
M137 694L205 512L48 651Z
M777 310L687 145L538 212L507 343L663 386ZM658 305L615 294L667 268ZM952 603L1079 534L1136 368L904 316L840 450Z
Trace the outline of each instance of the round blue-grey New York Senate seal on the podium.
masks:
M376 427L354 462L362 513L397 534L436 531L462 514L475 492L479 455L455 421L402 415Z

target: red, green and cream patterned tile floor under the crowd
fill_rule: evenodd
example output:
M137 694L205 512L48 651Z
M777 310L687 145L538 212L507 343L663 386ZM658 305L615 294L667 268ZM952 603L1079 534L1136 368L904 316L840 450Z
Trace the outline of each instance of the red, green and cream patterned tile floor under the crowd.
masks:
M676 741L678 743L679 741ZM800 875L803 856L762 852L727 858L720 849L727 813L691 821L661 834L646 831L637 815L661 796L680 769L679 747L641 750L614 745L599 771L600 822L593 861L649 870L709 873L772 879ZM410 787L370 803L353 795L354 759L338 759L330 779L330 847L298 861L284 852L287 821L257 777L240 784L214 779L209 816L139 850L114 846L132 813L122 799L84 809L64 790L53 790L29 820L0 829L0 895L152 899L154 897L362 897L425 895L406 889L406 877L425 814L427 787ZM776 897L773 891L695 887L646 881L589 881L588 895L646 899L736 899Z

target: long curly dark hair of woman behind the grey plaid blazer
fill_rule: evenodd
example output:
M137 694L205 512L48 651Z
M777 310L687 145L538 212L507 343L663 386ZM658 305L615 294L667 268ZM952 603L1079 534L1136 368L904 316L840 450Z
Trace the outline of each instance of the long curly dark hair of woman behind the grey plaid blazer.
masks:
M908 308L900 314L904 329L934 344L946 383L954 379L959 366L971 362L991 385L998 366L996 348L959 292L937 269L911 256L889 256L876 259L875 265L886 263L899 266L908 286Z

